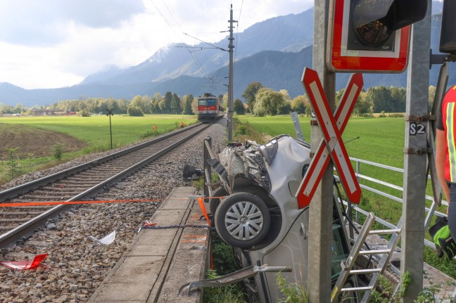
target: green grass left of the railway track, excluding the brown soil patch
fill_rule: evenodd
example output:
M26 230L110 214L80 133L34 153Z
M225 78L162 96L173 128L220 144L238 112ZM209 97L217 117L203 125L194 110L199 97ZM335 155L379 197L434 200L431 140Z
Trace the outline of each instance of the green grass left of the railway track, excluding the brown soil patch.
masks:
M113 115L111 117L113 148L127 146L140 141L142 138L151 138L153 136L165 134L174 129L178 129L181 122L184 122L184 124L188 126L198 122L198 120L194 115L145 115L144 117ZM18 138L20 138L20 134L24 134L24 132L30 133L36 129L44 129L46 131L56 131L58 133L68 134L69 136L73 136L80 141L87 143L87 146L81 150L65 152L61 160L54 159L51 153L46 157L41 157L34 155L33 153L24 153L23 150L18 148L14 155L15 167L13 176L15 177L20 176L20 174L52 167L84 154L110 150L109 117L106 115L94 115L91 117L0 117L0 124L1 131L16 134L18 135ZM157 127L156 131L153 131L154 125ZM30 141L30 138L28 140L27 144L34 144L32 140ZM41 138L40 140L43 139ZM11 143L9 145L11 146ZM19 142L18 146L21 146ZM15 147L16 146L13 144L13 148ZM50 150L52 146L48 146L47 148ZM11 159L8 158L6 148L0 146L0 184L11 180L11 171Z

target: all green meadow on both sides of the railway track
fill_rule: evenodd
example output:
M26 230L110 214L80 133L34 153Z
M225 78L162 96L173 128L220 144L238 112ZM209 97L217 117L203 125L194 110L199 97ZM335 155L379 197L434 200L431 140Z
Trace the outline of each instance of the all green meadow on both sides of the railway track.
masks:
M279 134L296 136L290 116L253 117L235 115L234 118L235 140L240 139L243 141L248 138L259 143L265 143L273 136ZM197 120L196 116L185 115L146 115L144 117L114 115L111 117L113 148L126 146L143 138L172 131L179 127L180 122L189 125L197 122ZM153 125L156 125L157 131L153 131ZM300 117L300 126L305 140L310 141L310 118ZM21 153L21 150L17 150L17 155L20 156L20 159L17 160L18 174L51 167L87 153L110 149L109 118L105 115L91 117L0 117L0 142L2 142L0 155L1 160L3 160L0 162L0 184L11 179L9 175L11 172L11 162L9 160L11 159L8 159L5 152L6 141L2 139L2 136L7 131L10 134L17 132L15 135L16 138L19 138L19 141L24 141L27 138L25 144L33 146L37 143L37 138L39 138L39 134L34 133L37 130L51 131L51 134L54 135L56 133L68 134L84 143L84 147L72 152L65 152L61 160L54 159L52 152L49 150L48 155L39 157L33 153L24 154ZM30 136L27 137L25 134ZM48 138L51 138L51 136ZM343 132L343 141L346 142L350 157L398 168L403 168L404 138L405 120L401 117L352 117ZM19 142L16 143L19 146ZM14 145L7 147L11 148ZM355 167L355 162L353 162L353 165ZM400 172L391 172L387 169L362 164L360 173L392 183L395 186L403 186L403 174ZM360 182L395 197L402 197L402 192L398 190L380 186L370 181L361 180ZM369 191L363 190L362 192L361 206L363 209L372 211L382 219L397 224L402 214L402 205L399 202L394 202ZM429 184L426 193L431 195ZM438 210L445 212L446 207L441 207ZM441 269L450 276L456 277L456 265L445 262L442 259L436 259L435 252L426 250L425 259L429 264Z

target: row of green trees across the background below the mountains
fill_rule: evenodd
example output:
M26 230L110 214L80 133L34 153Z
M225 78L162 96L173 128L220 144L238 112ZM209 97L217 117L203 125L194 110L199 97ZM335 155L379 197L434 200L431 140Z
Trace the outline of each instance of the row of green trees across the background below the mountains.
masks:
M433 102L436 87L429 86L429 105ZM336 94L336 104L343 94L343 89ZM260 82L251 82L242 94L246 103L236 99L233 110L238 115L250 113L258 116L289 114L310 115L311 107L307 95L303 94L291 99L288 91L274 91ZM224 108L227 108L227 94L219 95ZM357 99L354 115L372 114L373 112L405 112L406 90L403 87L372 86L362 91ZM114 98L87 98L67 100L53 103L50 106L34 106L26 108L23 105L5 105L0 103L0 114L21 114L32 109L63 109L70 112L106 113L113 110L115 114L144 115L144 114L184 114L196 115L198 100L188 94L182 98L168 91L165 96L160 93L149 96L134 96L131 100Z

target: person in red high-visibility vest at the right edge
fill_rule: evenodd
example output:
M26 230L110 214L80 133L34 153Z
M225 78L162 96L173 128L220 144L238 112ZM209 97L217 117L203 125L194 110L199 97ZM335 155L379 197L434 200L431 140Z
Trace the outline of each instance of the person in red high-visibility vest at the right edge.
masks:
M438 182L448 201L448 226L444 228L449 229L450 234L442 228L443 236L440 240L434 237L434 243L437 250L443 250L445 254L448 253L449 259L452 259L456 254L453 240L456 239L456 85L452 86L443 98L436 127L436 171Z

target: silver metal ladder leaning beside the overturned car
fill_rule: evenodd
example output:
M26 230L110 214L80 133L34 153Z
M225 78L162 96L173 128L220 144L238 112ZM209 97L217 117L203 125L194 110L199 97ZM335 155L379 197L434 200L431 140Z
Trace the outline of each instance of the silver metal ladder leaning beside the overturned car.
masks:
M362 226L360 234L358 235L355 244L348 254L348 257L345 261L341 262L342 270L341 274L338 276L336 285L334 285L333 291L331 293L331 303L338 302L338 296L341 292L365 292L362 297L361 302L369 302L369 298L372 295L372 290L375 290L377 283L379 282L379 276L384 272L386 267L389 265L389 260L391 255L394 252L398 240L400 238L400 231L402 228L396 229L384 229L379 231L371 231L372 225L375 222L375 215L370 212L367 215L365 224ZM402 224L399 224L402 225ZM362 246L365 243L367 236L369 235L384 235L391 234L391 240L388 242L388 246L384 250L361 250ZM356 269L353 270L356 259L360 255L372 255L372 254L382 254L381 260L376 268L372 269ZM368 286L363 287L353 287L353 288L343 288L345 285L348 276L372 273L372 278Z

